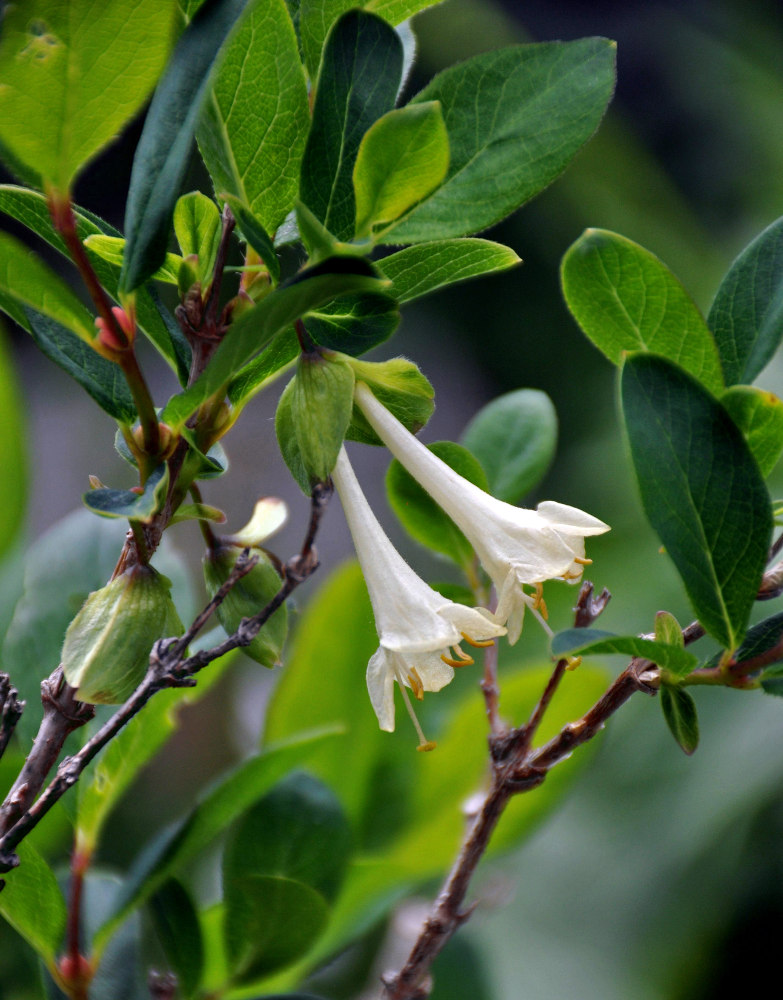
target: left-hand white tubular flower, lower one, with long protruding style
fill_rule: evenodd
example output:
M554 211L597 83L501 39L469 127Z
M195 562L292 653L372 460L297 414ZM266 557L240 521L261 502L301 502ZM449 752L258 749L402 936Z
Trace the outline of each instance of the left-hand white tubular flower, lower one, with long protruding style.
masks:
M440 691L454 667L473 659L460 643L491 646L505 628L483 610L447 600L410 568L385 535L356 481L345 448L340 449L332 480L342 501L356 555L370 594L380 646L367 666L370 701L381 729L394 730L394 682L419 734L419 750L435 746L426 739L405 690L421 700Z

